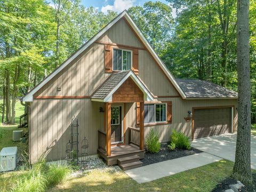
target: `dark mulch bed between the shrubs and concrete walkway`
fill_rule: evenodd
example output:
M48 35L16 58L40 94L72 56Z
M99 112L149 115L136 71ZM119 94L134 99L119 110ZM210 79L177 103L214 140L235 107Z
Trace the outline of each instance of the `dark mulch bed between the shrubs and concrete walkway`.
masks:
M203 151L198 150L198 149L193 148L193 147L190 150L186 150L186 149L170 150L167 147L169 144L170 143L162 144L159 153L151 154L151 153L149 153L149 151L146 150L145 158L140 160L143 163L142 166L167 161L167 160L170 160L170 159L185 157L185 156L188 156L188 155L194 155L194 154L203 152Z

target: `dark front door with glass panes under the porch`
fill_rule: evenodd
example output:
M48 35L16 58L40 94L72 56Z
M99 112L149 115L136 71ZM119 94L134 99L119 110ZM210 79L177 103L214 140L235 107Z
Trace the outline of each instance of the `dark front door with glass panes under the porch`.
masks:
M111 105L111 143L123 142L123 105Z

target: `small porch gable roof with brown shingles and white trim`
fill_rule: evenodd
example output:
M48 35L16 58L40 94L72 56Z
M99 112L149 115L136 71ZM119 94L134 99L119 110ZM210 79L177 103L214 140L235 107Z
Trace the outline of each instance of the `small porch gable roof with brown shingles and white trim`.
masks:
M133 73L132 70L119 71L110 75L110 77L102 83L98 90L96 90L92 96L92 101L100 102L112 102L112 95L116 90L126 81L127 78L131 77L133 82L143 92L145 101L153 101L154 96L150 93L147 87L141 82L141 80Z

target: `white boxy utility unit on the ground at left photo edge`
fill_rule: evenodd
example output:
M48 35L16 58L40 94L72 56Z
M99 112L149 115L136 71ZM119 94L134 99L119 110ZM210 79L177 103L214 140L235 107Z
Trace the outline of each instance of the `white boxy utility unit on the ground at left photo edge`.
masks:
M17 147L4 147L0 152L0 172L15 170L17 166Z

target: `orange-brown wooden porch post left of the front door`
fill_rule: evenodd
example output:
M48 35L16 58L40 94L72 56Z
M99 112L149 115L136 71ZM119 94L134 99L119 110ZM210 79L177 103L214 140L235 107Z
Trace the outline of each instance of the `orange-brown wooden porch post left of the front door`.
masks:
M107 156L111 155L111 104L106 103L106 148Z

